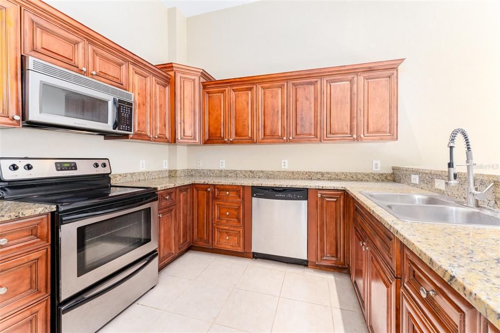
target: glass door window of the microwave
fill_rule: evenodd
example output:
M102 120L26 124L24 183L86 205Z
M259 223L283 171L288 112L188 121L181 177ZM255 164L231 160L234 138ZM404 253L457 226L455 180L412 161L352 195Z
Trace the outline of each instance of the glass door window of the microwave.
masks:
M107 123L108 101L42 83L41 112Z

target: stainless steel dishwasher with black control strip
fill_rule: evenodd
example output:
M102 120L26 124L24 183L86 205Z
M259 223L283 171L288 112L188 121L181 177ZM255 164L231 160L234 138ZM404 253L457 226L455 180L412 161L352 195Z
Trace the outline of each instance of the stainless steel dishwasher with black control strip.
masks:
M307 265L307 189L252 187L254 258Z

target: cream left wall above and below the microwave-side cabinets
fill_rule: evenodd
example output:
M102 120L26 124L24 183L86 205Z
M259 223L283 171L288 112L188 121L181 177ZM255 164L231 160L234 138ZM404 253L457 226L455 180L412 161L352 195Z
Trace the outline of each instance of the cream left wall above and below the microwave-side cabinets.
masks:
M168 61L167 9L160 1L53 1L48 4L151 63ZM0 156L109 157L113 173L162 169L169 147L104 140L100 135L42 129L1 129ZM176 160L185 166L185 156Z

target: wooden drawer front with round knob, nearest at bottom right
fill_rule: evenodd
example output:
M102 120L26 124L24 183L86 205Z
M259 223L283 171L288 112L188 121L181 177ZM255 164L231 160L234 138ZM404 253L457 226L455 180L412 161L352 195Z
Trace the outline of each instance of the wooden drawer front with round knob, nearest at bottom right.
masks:
M479 331L479 311L405 246L402 285L435 331Z

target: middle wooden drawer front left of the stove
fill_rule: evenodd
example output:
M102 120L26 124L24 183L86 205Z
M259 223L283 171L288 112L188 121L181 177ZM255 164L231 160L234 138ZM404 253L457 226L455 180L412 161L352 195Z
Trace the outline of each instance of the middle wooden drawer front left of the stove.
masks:
M0 261L0 317L49 295L49 267L48 247Z

